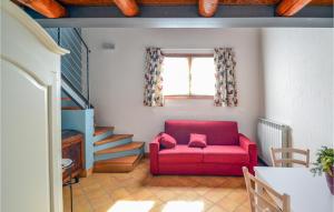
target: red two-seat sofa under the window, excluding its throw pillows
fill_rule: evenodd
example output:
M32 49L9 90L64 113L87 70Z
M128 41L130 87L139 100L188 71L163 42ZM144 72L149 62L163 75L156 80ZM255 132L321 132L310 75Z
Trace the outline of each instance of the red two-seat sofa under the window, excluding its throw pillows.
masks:
M165 132L174 137L174 149L161 149L159 135L149 143L153 174L243 175L242 166L254 173L257 164L256 144L238 133L233 121L165 122ZM189 134L207 135L206 148L188 148Z

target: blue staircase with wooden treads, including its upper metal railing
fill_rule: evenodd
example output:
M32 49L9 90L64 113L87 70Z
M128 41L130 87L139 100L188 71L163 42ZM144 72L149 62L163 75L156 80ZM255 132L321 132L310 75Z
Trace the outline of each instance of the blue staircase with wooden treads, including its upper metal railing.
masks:
M85 134L85 169L95 172L128 172L144 155L144 142L132 134L115 134L112 127L95 127L89 99L89 53L75 28L48 28L56 42L70 51L61 58L61 127Z

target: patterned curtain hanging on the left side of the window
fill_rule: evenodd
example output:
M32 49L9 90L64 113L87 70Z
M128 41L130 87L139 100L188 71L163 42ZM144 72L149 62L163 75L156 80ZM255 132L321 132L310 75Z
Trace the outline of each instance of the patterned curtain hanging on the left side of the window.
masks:
M161 64L164 55L159 48L146 49L146 73L145 73L145 92L144 105L163 107L163 77Z

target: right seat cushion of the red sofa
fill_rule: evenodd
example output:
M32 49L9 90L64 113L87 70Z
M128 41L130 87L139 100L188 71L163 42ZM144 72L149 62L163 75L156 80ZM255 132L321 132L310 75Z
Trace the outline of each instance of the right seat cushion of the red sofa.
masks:
M205 163L246 164L248 152L238 145L207 145L203 149Z

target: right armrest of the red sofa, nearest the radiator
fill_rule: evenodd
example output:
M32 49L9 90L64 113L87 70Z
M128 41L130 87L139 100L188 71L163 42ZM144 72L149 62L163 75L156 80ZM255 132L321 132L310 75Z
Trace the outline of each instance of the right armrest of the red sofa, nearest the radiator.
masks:
M256 143L250 141L247 137L239 133L239 145L249 154L248 170L254 174L254 166L257 165L257 147Z

